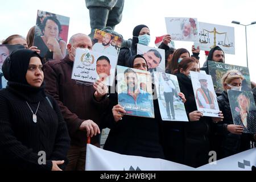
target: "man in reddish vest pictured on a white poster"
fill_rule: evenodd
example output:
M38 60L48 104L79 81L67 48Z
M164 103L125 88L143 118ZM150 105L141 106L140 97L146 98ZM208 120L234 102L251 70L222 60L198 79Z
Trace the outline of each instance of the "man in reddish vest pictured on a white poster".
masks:
M200 108L217 109L217 102L214 99L214 94L208 89L207 78L200 75L199 82L201 88L196 90L196 101Z

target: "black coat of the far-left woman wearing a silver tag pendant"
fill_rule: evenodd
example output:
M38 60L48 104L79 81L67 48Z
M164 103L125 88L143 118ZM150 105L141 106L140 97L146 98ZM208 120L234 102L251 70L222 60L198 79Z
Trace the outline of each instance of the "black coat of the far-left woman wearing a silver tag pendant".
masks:
M8 85L0 91L0 169L51 171L52 160L67 164L70 138L56 101L42 88L16 82ZM39 105L36 123L26 102L34 113ZM46 164L38 163L40 151L46 154Z

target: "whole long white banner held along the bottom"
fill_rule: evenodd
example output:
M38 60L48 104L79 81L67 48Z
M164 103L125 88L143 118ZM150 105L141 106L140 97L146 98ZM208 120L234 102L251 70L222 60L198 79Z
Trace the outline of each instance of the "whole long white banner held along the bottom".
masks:
M209 156L210 158L210 156ZM86 171L251 171L256 166L256 148L214 163L193 168L163 159L121 155L87 144Z

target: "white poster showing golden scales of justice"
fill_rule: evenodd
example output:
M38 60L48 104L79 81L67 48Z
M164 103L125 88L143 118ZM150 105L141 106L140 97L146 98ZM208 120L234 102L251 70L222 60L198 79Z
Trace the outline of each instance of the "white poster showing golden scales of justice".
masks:
M195 47L210 51L213 47L220 47L225 53L235 54L234 27L219 24L199 22L199 36Z

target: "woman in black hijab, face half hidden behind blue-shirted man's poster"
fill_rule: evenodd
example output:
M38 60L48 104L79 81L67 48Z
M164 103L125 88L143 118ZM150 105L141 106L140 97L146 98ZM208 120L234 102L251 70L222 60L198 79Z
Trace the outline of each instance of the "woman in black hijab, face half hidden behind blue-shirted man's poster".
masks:
M146 60L141 55L131 56L126 67L147 71ZM106 109L101 127L108 127L110 133L106 139L105 150L124 155L144 156L148 158L164 158L162 148L161 117L158 100L154 100L155 118L122 115L118 105L117 93L109 96L109 107ZM122 118L122 119L121 119Z

